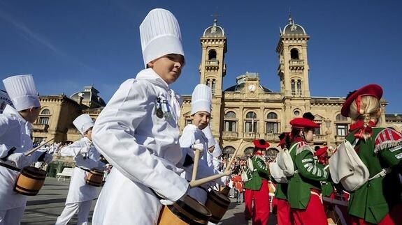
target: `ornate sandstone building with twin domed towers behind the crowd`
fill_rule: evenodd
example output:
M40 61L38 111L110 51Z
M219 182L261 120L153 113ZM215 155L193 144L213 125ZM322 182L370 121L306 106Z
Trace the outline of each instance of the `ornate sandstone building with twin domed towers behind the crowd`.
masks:
M245 72L236 77L234 85L223 90L226 75L227 36L222 26L213 25L201 36L200 84L213 91L211 128L220 141L224 154L232 154L240 148L239 155L252 153L254 139L266 139L271 143L268 154L275 154L278 135L289 132L289 121L306 111L315 115L321 127L315 130L314 145L336 146L347 134L350 119L340 114L343 97L310 96L308 40L303 26L289 18L280 31L276 52L280 91L275 93L264 87L257 72ZM245 68L246 69L246 68ZM34 123L34 141L55 138L57 142L76 141L80 134L72 121L87 113L96 119L105 102L93 86L85 86L67 98L66 95L41 96L43 106L38 121ZM191 123L191 95L184 95L181 129ZM387 102L382 100L384 107ZM400 114L382 114L382 125L402 130Z

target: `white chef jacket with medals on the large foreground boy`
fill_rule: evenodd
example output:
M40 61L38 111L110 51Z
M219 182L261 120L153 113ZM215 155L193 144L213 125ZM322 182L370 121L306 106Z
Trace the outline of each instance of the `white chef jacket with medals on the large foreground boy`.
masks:
M167 116L157 116L159 107ZM94 145L113 165L92 224L156 224L162 205L151 189L171 201L187 192L175 166L182 158L178 116L178 95L152 69L116 91L92 130Z

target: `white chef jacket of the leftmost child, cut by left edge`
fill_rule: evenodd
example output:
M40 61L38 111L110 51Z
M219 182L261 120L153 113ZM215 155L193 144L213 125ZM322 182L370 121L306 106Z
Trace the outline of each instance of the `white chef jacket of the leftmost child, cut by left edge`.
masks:
M0 114L0 158L5 157L12 147L17 148L14 153L31 150L33 147L31 127L31 123L22 118L16 109L7 105L3 114ZM21 168L36 162L40 155L41 153L34 152L27 156ZM17 176L17 171L0 166L0 210L10 210L26 205L27 196L13 191Z

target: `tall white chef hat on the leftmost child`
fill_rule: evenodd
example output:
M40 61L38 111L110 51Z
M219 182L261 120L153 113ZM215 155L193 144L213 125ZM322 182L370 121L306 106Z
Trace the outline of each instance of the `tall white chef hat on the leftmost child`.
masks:
M3 79L4 87L17 111L41 107L32 75L15 75Z

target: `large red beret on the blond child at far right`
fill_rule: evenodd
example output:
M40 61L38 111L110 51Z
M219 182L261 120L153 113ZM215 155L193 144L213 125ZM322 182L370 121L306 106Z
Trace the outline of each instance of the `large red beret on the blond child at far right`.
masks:
M358 97L358 96L365 96L365 95L371 95L377 98L378 100L381 99L382 97L382 88L378 84L368 84L362 88L360 88L357 91L354 91L350 96L348 96L343 103L342 109L340 110L340 113L342 116L349 116L349 111L350 111L350 104Z

